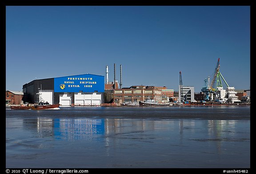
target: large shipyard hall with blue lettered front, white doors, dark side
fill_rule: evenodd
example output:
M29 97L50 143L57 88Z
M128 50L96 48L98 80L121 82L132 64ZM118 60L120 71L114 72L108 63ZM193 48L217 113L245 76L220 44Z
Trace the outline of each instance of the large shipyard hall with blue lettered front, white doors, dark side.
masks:
M81 74L33 80L23 85L24 102L36 103L40 97L61 106L96 106L104 101L104 76Z

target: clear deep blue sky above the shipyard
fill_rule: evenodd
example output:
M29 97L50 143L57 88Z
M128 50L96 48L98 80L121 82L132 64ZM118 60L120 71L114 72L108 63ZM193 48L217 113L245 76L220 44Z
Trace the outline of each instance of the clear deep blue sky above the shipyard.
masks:
M6 6L6 90L35 79L105 76L200 92L217 59L229 86L250 88L250 6ZM224 86L225 88L226 86Z

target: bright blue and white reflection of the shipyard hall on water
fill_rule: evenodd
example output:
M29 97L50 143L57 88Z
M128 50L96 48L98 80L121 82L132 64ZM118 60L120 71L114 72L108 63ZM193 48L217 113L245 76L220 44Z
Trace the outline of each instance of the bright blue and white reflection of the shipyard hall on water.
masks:
M83 139L102 135L104 119L51 119L46 117L23 120L25 129L35 132L37 137L54 139Z

